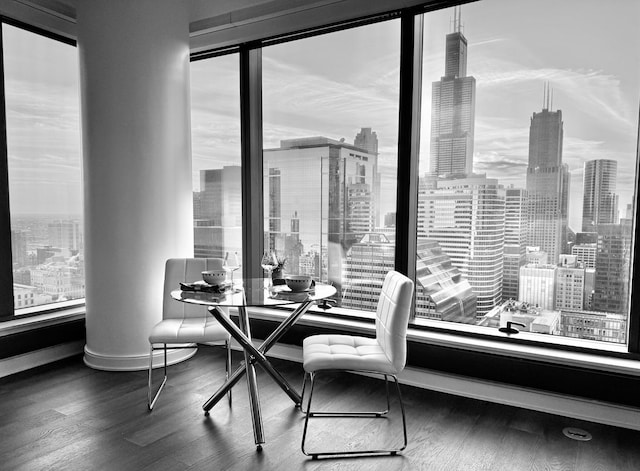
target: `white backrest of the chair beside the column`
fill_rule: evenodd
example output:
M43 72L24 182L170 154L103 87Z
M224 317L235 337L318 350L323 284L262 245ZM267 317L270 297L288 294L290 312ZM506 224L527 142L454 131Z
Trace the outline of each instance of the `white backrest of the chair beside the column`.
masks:
M207 308L179 303L171 297L171 291L180 289L180 282L202 279L205 270L222 270L221 258L170 258L164 269L163 319L185 319L208 316Z

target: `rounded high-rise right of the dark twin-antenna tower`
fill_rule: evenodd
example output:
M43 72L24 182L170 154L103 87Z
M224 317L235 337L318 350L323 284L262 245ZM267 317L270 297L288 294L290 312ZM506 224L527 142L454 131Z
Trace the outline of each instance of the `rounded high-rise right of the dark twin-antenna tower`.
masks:
M592 232L598 224L618 222L616 177L618 162L598 159L584 163L582 231Z

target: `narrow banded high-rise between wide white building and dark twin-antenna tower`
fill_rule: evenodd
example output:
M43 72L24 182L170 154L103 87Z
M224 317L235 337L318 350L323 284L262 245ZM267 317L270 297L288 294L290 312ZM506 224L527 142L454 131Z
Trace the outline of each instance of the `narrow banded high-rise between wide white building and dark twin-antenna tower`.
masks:
M504 218L502 299L518 299L520 267L526 263L527 190L507 188Z

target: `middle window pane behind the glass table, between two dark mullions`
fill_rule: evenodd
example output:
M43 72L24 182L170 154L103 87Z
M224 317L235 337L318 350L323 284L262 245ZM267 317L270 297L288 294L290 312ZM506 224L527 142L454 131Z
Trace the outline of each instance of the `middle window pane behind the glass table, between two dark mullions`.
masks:
M399 61L398 19L262 50L264 247L341 307L395 266Z

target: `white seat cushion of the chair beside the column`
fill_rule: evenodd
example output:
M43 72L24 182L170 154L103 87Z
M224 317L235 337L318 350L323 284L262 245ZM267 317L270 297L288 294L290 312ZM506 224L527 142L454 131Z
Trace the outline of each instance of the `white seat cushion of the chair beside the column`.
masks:
M158 322L149 335L150 343L205 343L228 340L231 336L210 315Z

